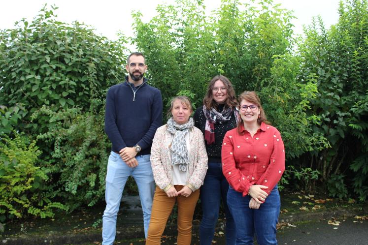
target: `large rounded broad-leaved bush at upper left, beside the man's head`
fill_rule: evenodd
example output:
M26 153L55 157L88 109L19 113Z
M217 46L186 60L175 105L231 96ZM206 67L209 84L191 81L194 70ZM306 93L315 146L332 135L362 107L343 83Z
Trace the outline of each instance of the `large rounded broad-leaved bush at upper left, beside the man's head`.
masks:
M14 128L30 133L47 128L46 116L30 122L42 105L88 110L92 94L102 99L104 89L124 80L123 39L112 42L84 24L62 23L51 8L0 31L0 105L22 105L26 115Z

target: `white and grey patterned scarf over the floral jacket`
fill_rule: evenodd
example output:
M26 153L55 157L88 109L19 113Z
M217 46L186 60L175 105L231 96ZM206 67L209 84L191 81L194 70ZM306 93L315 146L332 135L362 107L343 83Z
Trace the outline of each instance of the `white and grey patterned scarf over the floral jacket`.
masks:
M188 171L188 149L185 142L185 135L194 126L193 119L185 124L176 123L172 117L167 120L167 132L174 135L169 146L171 150L171 165L179 164L179 170Z

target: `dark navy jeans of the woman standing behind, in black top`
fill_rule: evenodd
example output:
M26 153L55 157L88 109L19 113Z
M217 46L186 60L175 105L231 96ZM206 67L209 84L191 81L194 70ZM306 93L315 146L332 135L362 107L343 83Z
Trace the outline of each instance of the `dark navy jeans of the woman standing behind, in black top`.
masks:
M221 199L226 215L226 244L235 244L235 223L230 214L226 197L229 183L222 174L221 163L208 162L208 170L201 186L202 220L200 227L201 245L211 245L219 216Z

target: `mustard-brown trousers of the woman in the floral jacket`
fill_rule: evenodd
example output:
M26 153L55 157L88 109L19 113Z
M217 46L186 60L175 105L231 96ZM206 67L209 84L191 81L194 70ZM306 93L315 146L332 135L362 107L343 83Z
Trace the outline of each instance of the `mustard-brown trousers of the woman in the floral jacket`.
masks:
M183 187L183 185L175 185L177 191L181 190ZM181 195L168 197L165 191L156 186L146 245L161 244L161 236L164 233L167 219L174 208L175 202L177 202L178 205L177 245L190 245L192 241L193 214L199 196L200 190L198 189L189 197L183 197Z

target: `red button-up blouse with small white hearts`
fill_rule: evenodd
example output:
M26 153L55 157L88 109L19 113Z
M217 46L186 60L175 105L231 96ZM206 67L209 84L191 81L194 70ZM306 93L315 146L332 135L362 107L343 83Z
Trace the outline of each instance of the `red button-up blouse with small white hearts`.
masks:
M243 196L253 184L268 186L263 189L270 193L281 179L285 170L285 149L280 132L262 122L261 127L251 137L241 125L225 134L222 144L222 172L234 190Z

